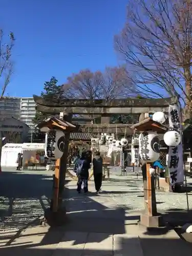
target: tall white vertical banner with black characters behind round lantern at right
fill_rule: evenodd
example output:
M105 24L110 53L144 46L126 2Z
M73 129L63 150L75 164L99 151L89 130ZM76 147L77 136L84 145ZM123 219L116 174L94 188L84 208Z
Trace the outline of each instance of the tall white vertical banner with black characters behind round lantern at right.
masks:
M181 127L181 113L178 105L169 105L168 119L169 126L177 130L182 137L182 127ZM184 168L183 168L183 144L182 140L178 146L169 147L168 151L168 165L170 183L180 183L184 181Z

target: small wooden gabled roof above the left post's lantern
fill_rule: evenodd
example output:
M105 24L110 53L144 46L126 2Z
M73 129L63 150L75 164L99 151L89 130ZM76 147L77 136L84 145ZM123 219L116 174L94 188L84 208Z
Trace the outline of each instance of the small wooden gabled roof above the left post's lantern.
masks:
M41 132L48 132L50 129L54 129L54 128L57 128L60 130L74 130L76 126L65 120L52 117L36 124L35 127L39 128Z

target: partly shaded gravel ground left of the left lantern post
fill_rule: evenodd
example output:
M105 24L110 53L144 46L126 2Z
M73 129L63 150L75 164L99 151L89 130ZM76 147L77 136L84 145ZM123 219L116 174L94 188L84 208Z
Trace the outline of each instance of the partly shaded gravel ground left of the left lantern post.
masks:
M0 229L33 225L49 206L52 173L6 170L0 175Z

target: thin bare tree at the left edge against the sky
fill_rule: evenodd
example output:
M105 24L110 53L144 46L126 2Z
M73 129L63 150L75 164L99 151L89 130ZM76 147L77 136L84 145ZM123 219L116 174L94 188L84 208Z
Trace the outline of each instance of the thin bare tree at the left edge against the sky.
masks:
M6 92L13 72L13 61L11 57L14 42L15 37L12 32L9 34L9 40L6 40L3 30L0 29L0 100L2 100Z

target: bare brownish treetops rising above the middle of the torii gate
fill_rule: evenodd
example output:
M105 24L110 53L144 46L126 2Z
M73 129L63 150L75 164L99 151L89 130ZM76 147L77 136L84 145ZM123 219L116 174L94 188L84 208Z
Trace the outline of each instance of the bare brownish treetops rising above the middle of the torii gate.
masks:
M123 66L107 67L104 72L86 69L72 74L63 84L63 89L72 98L110 100L132 94L133 83Z

